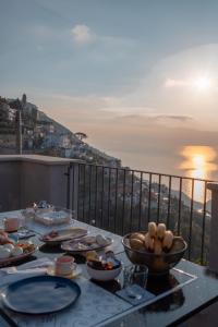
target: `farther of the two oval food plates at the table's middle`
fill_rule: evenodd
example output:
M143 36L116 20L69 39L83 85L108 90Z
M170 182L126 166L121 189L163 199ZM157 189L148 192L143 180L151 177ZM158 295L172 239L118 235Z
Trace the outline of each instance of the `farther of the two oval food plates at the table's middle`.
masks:
M58 235L53 237L49 240L50 233L46 233L39 238L41 242L45 242L47 244L60 244L63 241L72 240L72 239L80 239L87 234L87 230L84 228L77 228L72 227L68 229L60 229L60 230L53 230L52 232L57 232Z

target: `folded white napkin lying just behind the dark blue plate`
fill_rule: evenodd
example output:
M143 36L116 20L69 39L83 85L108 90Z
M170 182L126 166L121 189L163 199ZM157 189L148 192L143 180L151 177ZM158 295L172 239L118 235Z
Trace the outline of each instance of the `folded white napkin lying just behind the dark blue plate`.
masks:
M53 262L49 258L40 258L19 267L2 268L0 269L0 287L24 278L46 275L51 265Z

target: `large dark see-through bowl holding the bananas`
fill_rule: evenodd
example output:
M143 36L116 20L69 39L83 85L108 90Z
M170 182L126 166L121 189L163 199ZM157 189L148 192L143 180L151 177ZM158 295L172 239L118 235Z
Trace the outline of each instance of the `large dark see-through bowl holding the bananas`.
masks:
M145 232L140 233L145 234ZM187 244L182 238L174 237L172 249L168 253L155 254L146 250L133 250L130 246L130 237L131 233L124 235L122 239L128 258L134 265L146 265L148 274L153 276L169 274L169 270L181 261L187 249Z

